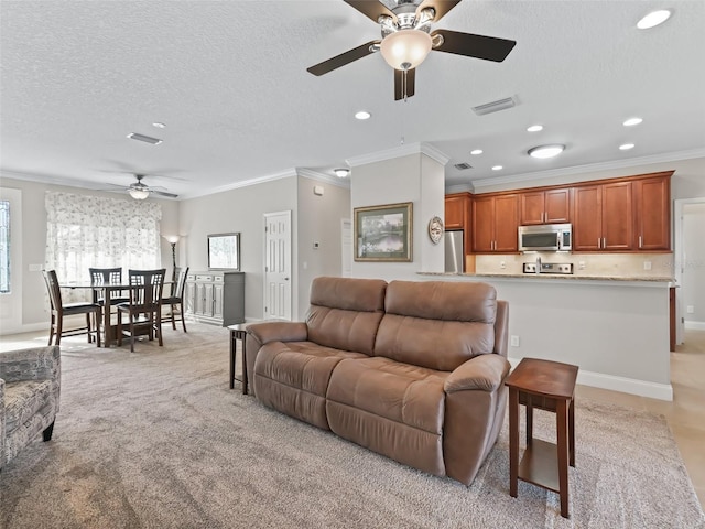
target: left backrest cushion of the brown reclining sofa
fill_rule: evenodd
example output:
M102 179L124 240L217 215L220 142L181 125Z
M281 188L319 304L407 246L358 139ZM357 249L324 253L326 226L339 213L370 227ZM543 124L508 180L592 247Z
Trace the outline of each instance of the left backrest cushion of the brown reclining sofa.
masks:
M384 309L381 279L316 278L306 315L308 339L371 355Z

